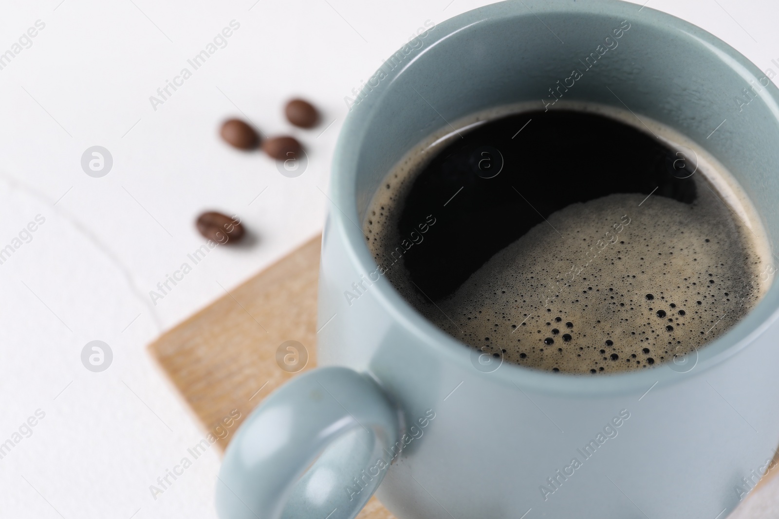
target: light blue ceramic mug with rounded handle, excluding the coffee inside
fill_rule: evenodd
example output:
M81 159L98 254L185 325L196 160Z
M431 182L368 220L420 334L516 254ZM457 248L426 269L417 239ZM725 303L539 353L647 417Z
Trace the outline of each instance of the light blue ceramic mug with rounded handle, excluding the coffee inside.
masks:
M777 284L697 359L578 377L485 366L411 308L365 245L368 202L407 150L489 107L544 107L598 46L610 54L567 99L629 107L697 142L777 240L773 71L681 19L612 0L519 0L449 19L394 54L352 106L323 237L325 367L241 426L217 482L220 517L354 517L375 492L400 519L714 519L773 468ZM345 298L354 283L361 295Z

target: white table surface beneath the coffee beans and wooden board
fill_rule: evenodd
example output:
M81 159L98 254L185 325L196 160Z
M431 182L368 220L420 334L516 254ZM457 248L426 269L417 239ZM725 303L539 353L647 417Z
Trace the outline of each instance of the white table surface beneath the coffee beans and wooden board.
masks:
M213 448L150 492L203 431L146 345L319 233L344 96L425 20L486 3L2 2L0 52L37 20L45 27L0 70L0 248L38 214L45 223L0 265L0 443L37 409L45 417L0 459L0 517L215 517ZM779 72L775 0L648 7ZM149 97L233 19L227 46L153 110ZM282 107L293 95L312 100L323 124L291 127ZM283 177L262 154L220 142L220 121L242 114L266 135L297 136L305 174ZM113 156L105 177L81 169L94 145ZM149 291L203 244L193 219L211 208L238 213L256 243L217 247L153 306ZM102 373L80 360L96 339L114 353Z

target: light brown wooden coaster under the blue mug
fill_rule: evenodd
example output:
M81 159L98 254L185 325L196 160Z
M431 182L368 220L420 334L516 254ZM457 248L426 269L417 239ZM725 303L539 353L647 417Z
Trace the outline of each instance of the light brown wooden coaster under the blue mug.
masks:
M237 420L241 423L263 398L294 377L277 363L277 349L283 342L300 342L308 352L305 370L315 366L321 241L319 236L309 240L149 345L151 355L208 432L213 433L231 412L235 416L234 409L241 413ZM221 451L238 424L217 440ZM769 493L777 485L768 484L768 479L774 475L763 477L734 517L777 517L777 500ZM358 519L394 516L372 497Z

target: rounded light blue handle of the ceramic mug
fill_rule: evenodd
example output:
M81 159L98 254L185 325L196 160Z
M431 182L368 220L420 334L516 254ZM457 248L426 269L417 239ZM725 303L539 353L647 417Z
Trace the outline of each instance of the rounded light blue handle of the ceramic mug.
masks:
M227 446L219 517L352 519L384 478L399 437L397 409L367 375L331 366L295 377Z

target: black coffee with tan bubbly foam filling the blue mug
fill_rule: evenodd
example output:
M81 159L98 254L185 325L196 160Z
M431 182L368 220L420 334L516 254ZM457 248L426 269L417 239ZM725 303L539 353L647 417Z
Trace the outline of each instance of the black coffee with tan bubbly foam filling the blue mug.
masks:
M390 171L369 247L428 320L509 362L600 373L692 352L759 300L767 240L663 130L575 110L471 124Z

